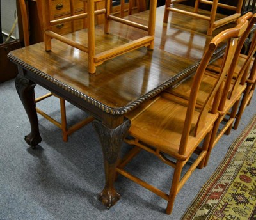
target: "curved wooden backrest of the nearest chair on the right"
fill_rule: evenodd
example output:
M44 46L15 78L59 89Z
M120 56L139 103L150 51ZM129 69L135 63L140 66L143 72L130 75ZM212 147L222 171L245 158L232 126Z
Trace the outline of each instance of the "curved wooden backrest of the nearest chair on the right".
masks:
M207 47L204 53L204 56L200 61L200 65L196 70L194 81L191 87L191 93L190 93L190 96L189 96L190 98L188 102L188 110L187 110L186 119L184 122L184 125L186 126L184 126L184 129L182 132L182 138L180 141L180 150L179 150L180 154L183 154L184 152L186 152L188 137L189 137L189 134L191 133L191 124L193 122L193 116L195 112L198 91L200 88L200 84L202 82L202 78L205 73L205 69L209 64L209 61L211 60L213 52L218 48L218 45L220 45L220 43L227 41L227 47L225 49L225 54L223 56L223 62L221 64L220 74L218 74L218 79L216 80L216 83L212 87L212 90L209 93L209 96L206 98L204 106L200 110L200 115L198 117L196 127L195 127L195 134L194 134L195 136L196 134L198 134L198 132L200 132L200 130L205 129L204 128L205 120L207 120L207 114L209 113L209 111L211 111L212 113L217 113L218 104L220 101L219 89L225 79L225 76L228 74L228 70L232 63L232 59L234 58L234 55L236 53L239 37L242 36L243 33L246 31L247 26L248 26L248 20L242 17L237 20L237 25L234 28L230 28L225 31L222 31L221 33L216 35L209 43L209 46Z

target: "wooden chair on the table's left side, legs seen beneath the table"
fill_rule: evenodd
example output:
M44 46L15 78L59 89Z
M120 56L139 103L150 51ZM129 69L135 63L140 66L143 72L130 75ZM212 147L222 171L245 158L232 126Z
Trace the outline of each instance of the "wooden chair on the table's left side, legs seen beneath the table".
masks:
M41 3L40 0L37 0L38 11L40 11L40 8L41 8L40 3ZM26 3L25 3L25 0L19 0L19 4L20 4L20 14L21 14L21 17L22 17L24 45L25 45L25 47L27 47L27 46L29 46L29 22L28 22L27 8L26 8L27 6L26 6ZM56 125L57 127L60 127L60 129L62 131L63 141L67 142L68 141L68 136L70 136L70 134L72 134L76 130L80 129L84 125L92 122L94 118L92 116L89 116L88 118L85 118L81 122L78 122L75 125L72 125L71 127L67 127L65 99L63 99L61 97L58 97L57 95L55 95L53 93L47 93L47 94L45 94L41 97L35 98L35 102L37 103L37 102L40 102L42 100L45 100L45 98L49 98L52 95L54 95L54 97L57 97L57 98L60 99L61 123L58 122L57 120L55 120L54 118L52 118L51 116L49 116L49 114L45 113L44 111L42 111L38 107L36 107L36 112L38 114L41 114L42 116L44 116L44 118L46 118L50 122L54 123L54 125Z

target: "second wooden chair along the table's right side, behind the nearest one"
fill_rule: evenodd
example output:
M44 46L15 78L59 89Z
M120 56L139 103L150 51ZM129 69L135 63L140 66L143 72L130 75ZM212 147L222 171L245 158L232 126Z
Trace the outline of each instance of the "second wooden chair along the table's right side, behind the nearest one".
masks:
M243 16L242 19L250 19L252 17L252 13L249 12ZM252 26L256 22L256 15L253 15L248 28L244 31L244 34L237 40L237 48L234 53L234 58L232 59L232 63L228 66L228 70L226 71L226 77L223 81L223 86L221 86L221 90L219 92L220 95L220 104L218 106L219 117L214 124L214 129L212 131L211 141L209 143L209 149L207 152L207 157L205 159L205 166L209 160L209 156L211 154L212 148L216 145L216 143L220 140L223 134L229 134L232 128L232 123L236 117L237 107L239 105L239 100L246 89L246 85L243 83L242 79L244 75L246 75L246 69L248 65L250 65L250 61L246 61L241 67L239 73L237 74L236 79L233 79L234 70L236 68L237 59L239 57L239 52L241 51L244 41L246 40L248 34L250 33ZM255 50L255 49L254 49ZM248 55L249 59L252 59L254 54L254 50L250 52ZM225 62L225 54L220 63L220 72L223 68L223 62ZM220 73L219 73L220 74ZM205 75L202 79L202 84L200 86L200 90L198 93L198 97L196 99L196 106L202 107L204 106L205 98L209 95L209 92L214 88L214 84L218 80L219 74L213 74L209 70L205 70ZM193 82L194 77L187 79L186 81L180 83L175 88L170 88L168 91L175 97L182 98L183 100L189 99L189 93L191 92L191 84ZM221 125L221 122L225 122L224 125Z

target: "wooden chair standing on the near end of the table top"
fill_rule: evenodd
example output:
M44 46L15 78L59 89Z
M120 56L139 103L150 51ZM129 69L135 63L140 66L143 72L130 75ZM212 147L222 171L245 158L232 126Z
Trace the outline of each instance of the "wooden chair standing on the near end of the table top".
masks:
M74 0L70 0L74 1ZM102 64L104 61L108 59L112 59L115 56L120 56L125 52L132 51L134 49L138 49L139 47L148 47L148 49L154 48L154 27L156 22L156 5L157 0L150 1L150 13L148 17L148 26L144 26L142 24L138 24L136 22L131 22L129 20L125 20L119 17L115 17L110 14L111 9L111 0L106 0L105 8L100 10L95 10L94 3L97 3L102 0L80 0L87 3L87 12L81 13L79 15L71 15L70 17L66 17L63 19L51 20L51 0L42 1L43 8L43 19L44 19L44 41L45 41L45 50L51 51L51 39L55 38L60 40L63 43L67 43L72 47L76 47L81 51L88 53L88 72L90 74L94 74L96 71L96 66ZM103 14L105 17L104 21L104 33L109 33L109 21L114 20L116 22L120 22L122 24L126 24L132 26L134 28L143 29L147 31L147 36L143 36L137 40L133 40L131 42L124 43L124 45L116 46L115 48L108 49L107 51L102 51L99 53L95 53L95 15ZM76 19L88 19L88 41L87 46L81 43L75 42L74 40L70 40L65 36L61 36L58 33L54 33L52 31L52 26L61 24L63 22L70 22Z

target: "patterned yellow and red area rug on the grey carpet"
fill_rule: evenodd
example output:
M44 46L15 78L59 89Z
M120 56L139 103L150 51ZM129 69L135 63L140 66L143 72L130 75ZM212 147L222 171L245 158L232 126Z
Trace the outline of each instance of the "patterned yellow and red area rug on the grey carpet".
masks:
M182 220L256 220L256 115Z

